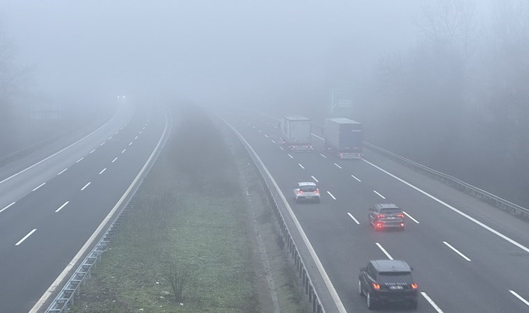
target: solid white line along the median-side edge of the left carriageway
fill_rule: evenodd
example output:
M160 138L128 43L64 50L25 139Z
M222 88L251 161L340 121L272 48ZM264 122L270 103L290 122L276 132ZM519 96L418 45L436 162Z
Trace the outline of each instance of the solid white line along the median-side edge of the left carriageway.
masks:
M40 299L37 301L37 303L35 303L35 305L31 309L31 311L29 311L29 313L37 313L40 310L40 307L42 307L42 305L45 305L45 303L48 300L49 296L52 296L52 294L54 294L54 292L55 292L55 289L60 287L61 282L64 280L66 275L68 275L68 272L70 272L72 270L73 266L75 266L75 264L77 264L77 262L79 262L79 259L81 259L81 257L84 255L86 250L88 250L88 248L92 245L93 241L95 241L97 236L99 236L100 232L103 230L103 227L106 225L106 223L109 222L110 218L116 212L118 207L120 207L121 203L123 203L125 198L127 198L127 195L129 195L130 191L132 191L132 188L134 188L134 185L136 184L136 182L138 182L138 180L140 179L141 175L143 175L143 172L145 172L145 168L147 168L149 162L155 156L155 152L158 150L158 147L160 146L161 141L162 141L162 139L164 138L164 136L165 136L165 134L167 132L167 126L168 125L167 125L167 115L166 115L166 128L164 129L164 133L161 134L161 137L160 137L160 140L158 141L158 144L156 145L155 149L152 150L152 153L150 154L149 159L147 159L147 161L145 162L145 165L143 166L143 168L141 168L141 170L139 171L138 175L136 175L136 178L134 178L134 180L132 181L132 184L130 184L129 188L127 188L127 191L125 191L125 193L123 193L123 195L121 196L120 200L118 200L118 202L116 203L116 205L114 205L114 207L111 209L109 214L102 220L101 224L93 232L92 236L90 236L90 238L88 238L86 243L84 243L84 246L81 248L81 250L79 250L79 252L77 252L77 255L74 256L72 261L70 261L70 263L68 263L68 265L64 268L64 270L61 272L61 274L58 275L56 280L54 280L54 282L52 282L52 284L45 291L45 293L42 294ZM170 127L170 129L171 129L171 127Z

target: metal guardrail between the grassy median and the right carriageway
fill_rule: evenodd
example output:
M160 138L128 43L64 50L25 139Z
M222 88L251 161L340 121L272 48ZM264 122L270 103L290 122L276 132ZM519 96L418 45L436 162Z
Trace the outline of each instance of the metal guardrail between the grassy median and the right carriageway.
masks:
M296 246L296 243L294 242L294 239L292 238L292 234L290 230L287 227L287 223L285 223L285 218L283 216L283 212L281 211L281 207L285 209L285 203L281 201L281 196L279 191L274 184L272 183L271 177L269 177L269 174L267 171L264 170L264 164L262 164L262 161L258 158L257 154L251 149L251 147L248 145L246 140L239 134L238 131L236 131L231 125L229 125L226 122L226 125L232 129L232 131L235 133L237 138L242 142L244 145L244 148L246 149L246 152L248 153L248 156L251 157L253 161L253 166L259 171L260 173L260 179L262 182L264 182L265 186L267 186L267 196L268 200L271 204L271 207L274 209L274 214L276 215L276 218L278 219L279 227L281 229L281 235L283 236L283 240L285 241L286 248L289 252L289 255L292 257L292 260L294 261L294 266L296 266L296 271L299 280L301 280L301 287L303 292L308 297L308 302L312 305L313 312L315 313L325 313L324 307L321 303L321 300L319 300L319 296L317 294L317 291L314 288L313 281L310 279L310 275L307 271L307 267L305 263L303 262L303 259L301 258L301 254L299 253L299 250ZM286 209L285 209L286 210Z

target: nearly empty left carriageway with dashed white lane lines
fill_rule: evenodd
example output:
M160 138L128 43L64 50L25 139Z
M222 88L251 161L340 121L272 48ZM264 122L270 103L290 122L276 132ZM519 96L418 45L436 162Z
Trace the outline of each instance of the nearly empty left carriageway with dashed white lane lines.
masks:
M70 262L169 127L163 110L123 104L84 136L0 169L1 313L29 312L59 275L67 277L65 268L77 267Z

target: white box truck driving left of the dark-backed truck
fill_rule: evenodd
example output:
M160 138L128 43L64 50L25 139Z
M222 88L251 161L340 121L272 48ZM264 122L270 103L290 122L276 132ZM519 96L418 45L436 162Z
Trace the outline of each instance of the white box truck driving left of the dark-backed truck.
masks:
M310 144L310 119L301 115L283 116L279 125L281 144L291 151L308 152Z

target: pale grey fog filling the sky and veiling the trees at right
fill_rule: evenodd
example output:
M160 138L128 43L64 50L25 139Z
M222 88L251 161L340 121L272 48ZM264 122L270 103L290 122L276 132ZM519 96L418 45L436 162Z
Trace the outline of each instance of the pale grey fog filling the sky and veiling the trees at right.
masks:
M514 0L1 0L12 53L0 64L19 79L2 82L0 109L127 95L313 117L347 81L369 141L526 202L528 12Z

